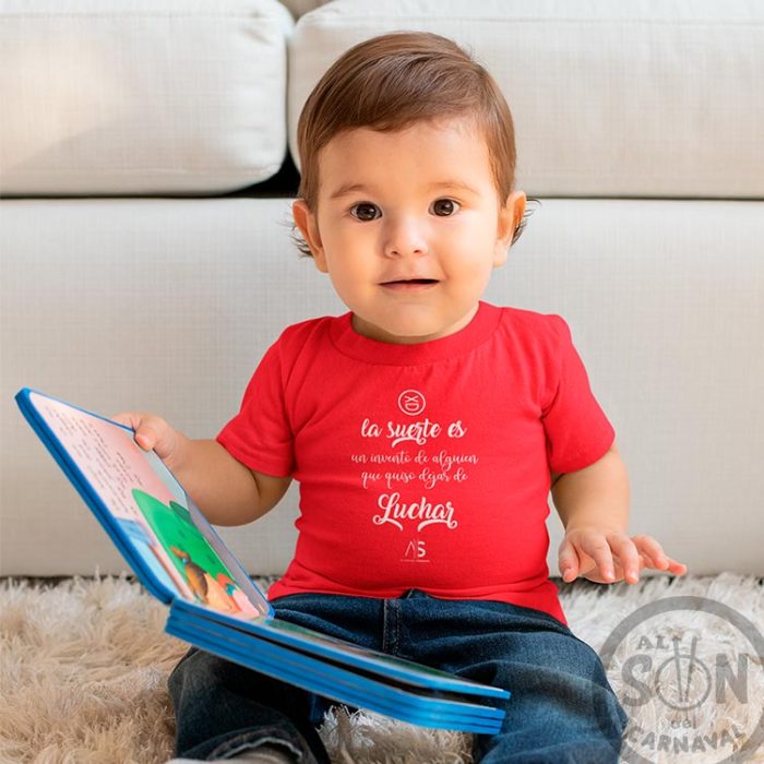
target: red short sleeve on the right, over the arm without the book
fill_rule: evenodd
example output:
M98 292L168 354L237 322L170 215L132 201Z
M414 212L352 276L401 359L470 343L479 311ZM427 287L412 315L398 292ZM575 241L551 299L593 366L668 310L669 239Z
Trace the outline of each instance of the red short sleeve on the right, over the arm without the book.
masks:
M553 473L574 473L600 459L612 445L616 431L589 386L571 330L564 319L548 315L554 329L554 358L549 368L556 379L548 390L541 420L547 439L547 461Z

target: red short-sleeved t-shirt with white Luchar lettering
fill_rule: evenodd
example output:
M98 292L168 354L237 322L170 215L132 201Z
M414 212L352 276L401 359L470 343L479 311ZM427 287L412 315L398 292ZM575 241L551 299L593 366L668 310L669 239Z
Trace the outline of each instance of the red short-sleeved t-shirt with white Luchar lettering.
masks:
M458 332L397 345L351 315L288 326L217 437L300 484L295 558L268 597L418 588L565 623L546 562L549 473L614 439L565 321L481 301Z

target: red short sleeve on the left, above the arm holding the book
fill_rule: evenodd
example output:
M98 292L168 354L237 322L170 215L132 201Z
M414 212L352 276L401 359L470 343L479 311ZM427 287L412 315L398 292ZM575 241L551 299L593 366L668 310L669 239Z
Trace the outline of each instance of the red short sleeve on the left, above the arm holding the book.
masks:
M278 342L272 345L247 385L239 413L216 440L250 469L274 477L294 471L294 437L284 399Z

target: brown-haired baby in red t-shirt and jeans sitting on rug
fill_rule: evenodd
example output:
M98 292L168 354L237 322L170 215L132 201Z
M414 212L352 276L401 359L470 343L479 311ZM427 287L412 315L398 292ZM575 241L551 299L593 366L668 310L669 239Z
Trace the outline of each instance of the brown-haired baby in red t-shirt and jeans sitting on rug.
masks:
M115 417L206 517L243 525L300 484L276 616L512 692L476 761L617 762L626 715L568 628L564 582L681 575L628 535L626 470L563 319L480 298L526 215L512 117L453 41L396 33L323 75L298 124L299 247L349 311L284 330L215 440ZM174 761L329 762L331 705L191 648Z

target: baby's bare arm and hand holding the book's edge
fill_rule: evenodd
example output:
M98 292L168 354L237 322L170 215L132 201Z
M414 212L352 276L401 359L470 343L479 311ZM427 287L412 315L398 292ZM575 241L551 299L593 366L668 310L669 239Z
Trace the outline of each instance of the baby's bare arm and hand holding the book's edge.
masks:
M129 411L111 417L135 430L135 442L156 451L215 525L243 525L264 515L286 493L290 477L251 470L215 440L191 440L153 414Z

